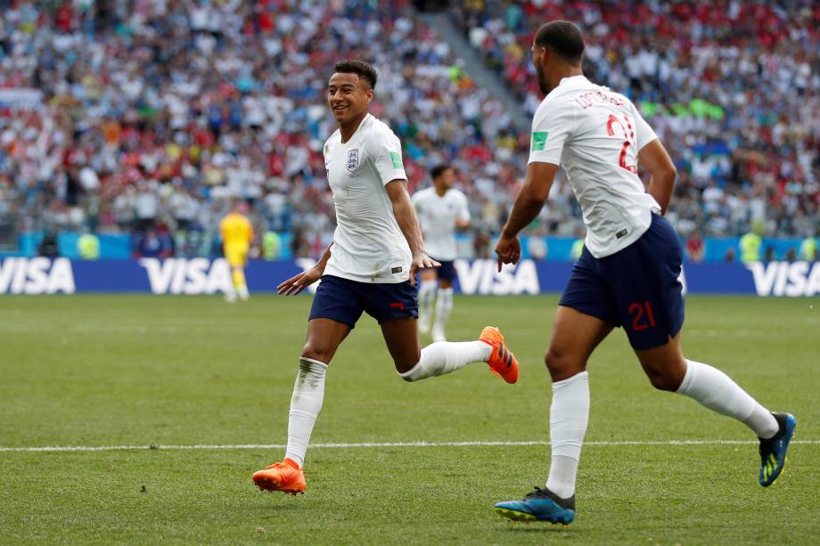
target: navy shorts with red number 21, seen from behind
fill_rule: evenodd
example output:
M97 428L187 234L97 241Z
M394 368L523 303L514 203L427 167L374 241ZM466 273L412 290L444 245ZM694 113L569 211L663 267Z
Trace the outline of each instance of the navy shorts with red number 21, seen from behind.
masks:
M636 350L666 345L684 325L682 261L672 225L653 214L626 249L596 258L585 247L558 305L623 326Z

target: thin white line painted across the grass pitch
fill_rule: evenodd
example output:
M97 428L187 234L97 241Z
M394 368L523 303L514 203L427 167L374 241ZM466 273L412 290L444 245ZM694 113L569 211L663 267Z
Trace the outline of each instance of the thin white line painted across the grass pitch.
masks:
M523 446L549 445L543 440L530 442L365 442L361 444L310 444L311 449L357 449L379 447L470 447L470 446ZM666 440L640 441L624 440L613 442L585 442L585 446L611 447L619 445L752 445L748 440ZM820 440L792 440L791 444L820 445ZM184 450L242 450L242 449L284 449L285 444L194 444L194 445L54 445L54 446L0 446L0 452L117 452L117 451L184 451Z

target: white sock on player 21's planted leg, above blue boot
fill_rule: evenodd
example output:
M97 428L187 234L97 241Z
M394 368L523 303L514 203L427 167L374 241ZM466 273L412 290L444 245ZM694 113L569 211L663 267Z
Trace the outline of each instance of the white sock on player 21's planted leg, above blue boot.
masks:
M589 377L586 371L570 379L553 383L553 403L550 405L550 475L546 488L569 499L575 494L575 477L581 444L589 421Z

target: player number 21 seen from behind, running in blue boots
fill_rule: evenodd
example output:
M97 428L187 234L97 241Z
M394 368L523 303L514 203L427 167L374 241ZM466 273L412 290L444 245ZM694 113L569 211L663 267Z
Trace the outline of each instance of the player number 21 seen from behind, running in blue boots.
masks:
M583 76L583 52L581 32L570 22L553 21L537 31L532 57L546 97L532 122L524 186L496 246L499 269L519 260L518 233L544 206L563 167L588 231L545 355L553 379L549 477L545 489L537 487L522 501L496 504L506 517L553 524L575 517L575 477L589 417L586 361L616 326L627 331L653 387L690 396L757 434L760 485L774 483L783 469L795 426L790 414L768 412L726 374L681 352L682 252L660 216L676 169L632 102ZM638 165L652 174L645 189Z

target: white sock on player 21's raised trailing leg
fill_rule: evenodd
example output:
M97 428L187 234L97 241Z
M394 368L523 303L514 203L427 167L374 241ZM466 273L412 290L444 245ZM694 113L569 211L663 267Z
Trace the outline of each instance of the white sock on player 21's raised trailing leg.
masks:
M771 438L779 429L771 412L723 371L709 364L687 360L684 381L677 392L694 398L714 412L742 421L761 438Z

